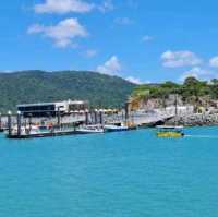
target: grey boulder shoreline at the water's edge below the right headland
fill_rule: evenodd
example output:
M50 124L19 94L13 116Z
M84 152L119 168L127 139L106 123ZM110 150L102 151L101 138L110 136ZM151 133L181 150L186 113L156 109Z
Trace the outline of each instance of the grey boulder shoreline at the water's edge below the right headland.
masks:
M166 124L178 124L184 126L218 125L218 113L193 113L172 118Z

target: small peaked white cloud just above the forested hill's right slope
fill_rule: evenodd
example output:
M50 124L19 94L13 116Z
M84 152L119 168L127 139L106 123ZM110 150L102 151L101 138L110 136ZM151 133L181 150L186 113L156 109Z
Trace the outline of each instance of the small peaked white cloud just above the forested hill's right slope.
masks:
M117 56L112 56L108 61L106 61L102 65L97 67L97 72L100 72L102 74L110 74L114 75L118 74L121 71L122 67L117 58Z

